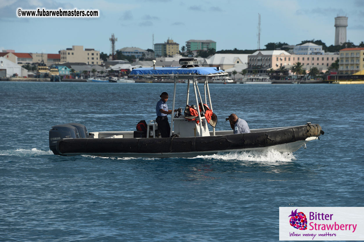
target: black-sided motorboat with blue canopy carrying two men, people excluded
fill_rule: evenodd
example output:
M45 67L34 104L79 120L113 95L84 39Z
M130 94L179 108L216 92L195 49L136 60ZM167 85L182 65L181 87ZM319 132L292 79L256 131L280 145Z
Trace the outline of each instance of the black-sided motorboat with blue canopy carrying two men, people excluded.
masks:
M233 134L232 130L215 130L217 117L213 113L208 78L226 75L216 67L199 67L199 61L181 59L178 67L133 69L130 75L173 78L171 131L169 138L158 136L158 125L151 121L143 131L88 132L82 124L52 126L49 145L54 154L75 156L88 154L103 157L195 157L219 152L294 152L306 143L319 139L324 132L318 124L251 129L251 133ZM203 97L197 77L204 78ZM175 110L176 84L187 79L186 108ZM190 97L193 85L193 99ZM207 106L207 103L209 106ZM195 107L193 107L195 105ZM195 112L191 112L191 109ZM192 110L194 111L194 110ZM194 113L194 115L192 115ZM212 115L211 115L212 113ZM147 119L147 118L146 118ZM212 130L209 130L209 125Z

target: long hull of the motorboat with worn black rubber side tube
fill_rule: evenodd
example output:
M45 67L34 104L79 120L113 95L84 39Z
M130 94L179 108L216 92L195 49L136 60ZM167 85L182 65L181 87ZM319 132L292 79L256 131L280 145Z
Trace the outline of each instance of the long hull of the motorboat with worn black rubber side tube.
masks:
M56 150L63 156L195 157L218 152L276 149L294 152L323 131L307 124L266 132L183 138L63 138Z

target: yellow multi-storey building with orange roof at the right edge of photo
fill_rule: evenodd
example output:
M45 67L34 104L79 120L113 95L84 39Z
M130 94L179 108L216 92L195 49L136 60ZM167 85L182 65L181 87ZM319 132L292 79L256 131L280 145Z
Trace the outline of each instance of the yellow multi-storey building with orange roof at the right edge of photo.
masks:
M340 50L339 74L352 75L364 70L364 48Z

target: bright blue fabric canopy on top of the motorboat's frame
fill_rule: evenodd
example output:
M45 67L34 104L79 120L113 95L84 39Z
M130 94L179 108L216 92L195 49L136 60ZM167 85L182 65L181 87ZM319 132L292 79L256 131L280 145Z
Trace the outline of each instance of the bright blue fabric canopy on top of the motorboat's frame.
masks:
M191 67L181 68L175 67L153 67L149 68L135 68L129 76L166 76L166 75L225 75L223 70L218 70L216 67Z

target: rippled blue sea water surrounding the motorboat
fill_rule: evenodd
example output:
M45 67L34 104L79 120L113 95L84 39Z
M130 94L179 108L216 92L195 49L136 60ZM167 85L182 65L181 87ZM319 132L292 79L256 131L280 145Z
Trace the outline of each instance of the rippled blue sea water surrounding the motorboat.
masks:
M210 84L217 130L230 113L251 129L320 124L320 141L293 154L49 150L56 124L134 130L163 91L173 84L0 82L0 241L278 241L280 206L363 206L364 85Z

